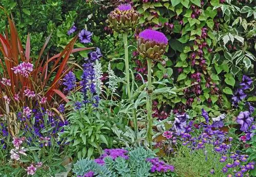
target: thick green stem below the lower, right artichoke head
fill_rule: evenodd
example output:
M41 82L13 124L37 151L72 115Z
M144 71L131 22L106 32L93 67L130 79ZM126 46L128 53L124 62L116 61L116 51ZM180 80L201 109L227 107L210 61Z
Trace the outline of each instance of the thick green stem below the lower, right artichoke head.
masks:
M152 148L152 125L153 125L153 119L152 119L152 80L151 80L151 68L152 68L152 59L147 59L147 100L146 100L146 108L147 108L147 140L150 144L150 148Z

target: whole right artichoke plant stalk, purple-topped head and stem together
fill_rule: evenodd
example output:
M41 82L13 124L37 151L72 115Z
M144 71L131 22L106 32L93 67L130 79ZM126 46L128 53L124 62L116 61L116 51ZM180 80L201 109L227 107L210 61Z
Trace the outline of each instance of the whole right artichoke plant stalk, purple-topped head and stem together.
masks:
M152 60L158 60L165 52L168 39L166 36L155 30L144 30L139 34L138 50L142 58L147 60L147 141L152 148L153 118L152 118Z

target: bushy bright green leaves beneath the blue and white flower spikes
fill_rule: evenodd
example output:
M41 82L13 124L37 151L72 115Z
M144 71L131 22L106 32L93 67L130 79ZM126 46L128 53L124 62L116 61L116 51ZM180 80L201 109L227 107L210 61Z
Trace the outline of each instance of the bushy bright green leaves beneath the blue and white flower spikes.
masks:
M70 155L76 154L78 159L95 156L102 151L102 147L110 148L113 144L111 136L111 124L104 119L104 107L95 108L91 103L82 104L80 109L75 109L76 101L83 101L83 94L73 93L68 97L71 101L66 104L69 107L67 115L69 125L59 133L69 143Z

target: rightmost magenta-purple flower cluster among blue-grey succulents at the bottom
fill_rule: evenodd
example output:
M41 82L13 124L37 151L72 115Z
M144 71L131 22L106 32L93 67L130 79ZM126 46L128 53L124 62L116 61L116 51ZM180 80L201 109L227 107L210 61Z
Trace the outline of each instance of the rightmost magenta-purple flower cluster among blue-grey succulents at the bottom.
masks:
M174 166L166 164L164 161L160 161L158 158L148 158L146 159L147 162L152 164L151 172L167 172L167 171L174 171Z

